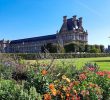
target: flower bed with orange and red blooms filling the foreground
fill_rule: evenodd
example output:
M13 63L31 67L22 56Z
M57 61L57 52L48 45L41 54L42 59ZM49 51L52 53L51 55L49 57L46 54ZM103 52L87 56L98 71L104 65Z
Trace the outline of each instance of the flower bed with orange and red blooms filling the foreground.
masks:
M86 63L78 70L73 65L58 67L52 63L30 64L23 60L6 62L0 62L2 100L110 99L110 71L100 71L97 64ZM13 73L16 73L14 77Z

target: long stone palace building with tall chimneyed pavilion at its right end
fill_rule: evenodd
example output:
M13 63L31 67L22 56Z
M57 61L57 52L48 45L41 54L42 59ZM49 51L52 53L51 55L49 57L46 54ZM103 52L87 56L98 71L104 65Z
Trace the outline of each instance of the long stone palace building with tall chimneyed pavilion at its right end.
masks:
M77 18L76 15L69 19L67 16L63 16L63 24L56 34L11 41L3 39L0 41L0 52L40 53L41 47L48 43L65 45L71 42L88 43L88 32L82 26L82 17Z

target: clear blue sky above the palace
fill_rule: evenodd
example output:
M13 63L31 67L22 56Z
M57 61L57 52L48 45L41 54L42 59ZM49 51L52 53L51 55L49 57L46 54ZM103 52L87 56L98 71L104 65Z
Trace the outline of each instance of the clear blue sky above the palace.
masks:
M110 44L110 0L0 0L0 39L54 34L64 15L83 17L89 44Z

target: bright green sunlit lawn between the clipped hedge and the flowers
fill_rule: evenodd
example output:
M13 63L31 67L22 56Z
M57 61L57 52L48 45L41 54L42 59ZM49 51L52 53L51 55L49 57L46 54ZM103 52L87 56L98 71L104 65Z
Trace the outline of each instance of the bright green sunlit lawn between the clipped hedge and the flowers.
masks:
M34 62L34 61L31 61ZM110 71L110 57L99 57L99 58L75 58L75 59L56 59L54 61L55 65L76 65L77 68L81 68L87 62L96 62L101 70L109 70ZM50 60L40 60L39 63L50 63ZM61 65L61 66L64 66Z

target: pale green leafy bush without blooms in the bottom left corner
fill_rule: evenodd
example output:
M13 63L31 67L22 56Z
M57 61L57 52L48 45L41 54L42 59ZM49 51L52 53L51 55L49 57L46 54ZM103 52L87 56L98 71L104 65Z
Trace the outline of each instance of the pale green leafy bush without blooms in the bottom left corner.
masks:
M0 80L0 100L36 100L39 95L34 87L28 92L11 80Z

